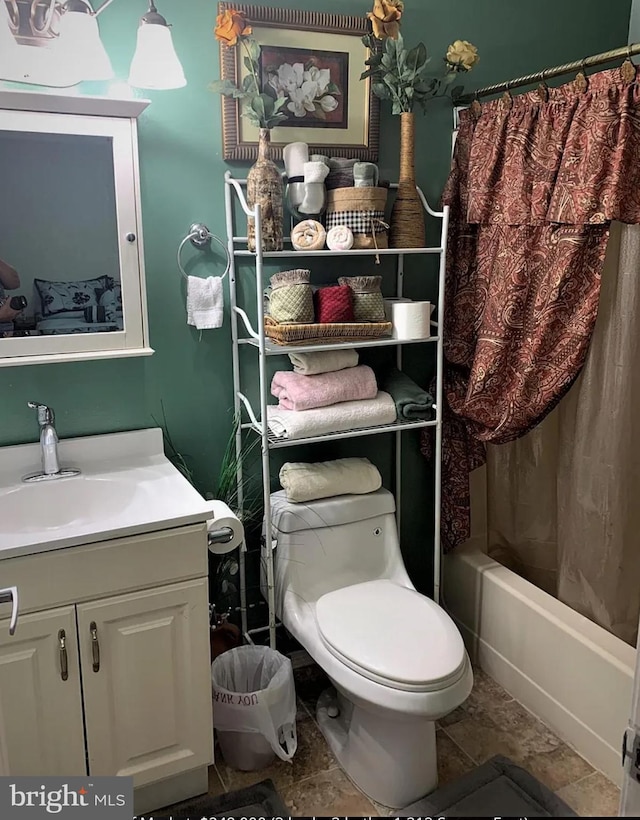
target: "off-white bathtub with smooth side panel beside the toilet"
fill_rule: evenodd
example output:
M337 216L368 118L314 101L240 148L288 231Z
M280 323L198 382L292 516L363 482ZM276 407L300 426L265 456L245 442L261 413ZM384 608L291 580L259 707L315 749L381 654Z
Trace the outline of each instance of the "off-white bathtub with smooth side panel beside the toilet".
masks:
M472 545L444 560L443 604L472 660L620 785L633 647Z

